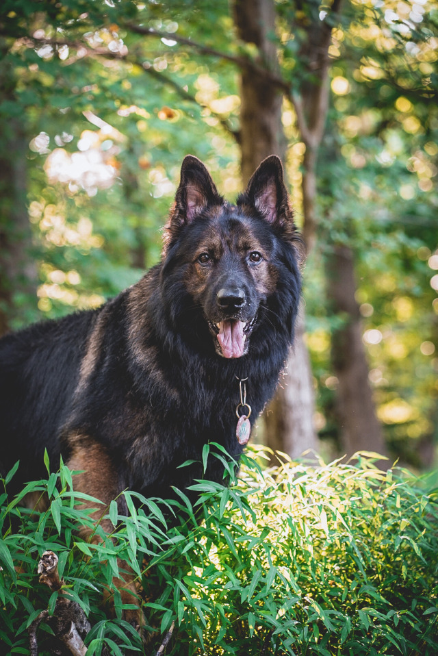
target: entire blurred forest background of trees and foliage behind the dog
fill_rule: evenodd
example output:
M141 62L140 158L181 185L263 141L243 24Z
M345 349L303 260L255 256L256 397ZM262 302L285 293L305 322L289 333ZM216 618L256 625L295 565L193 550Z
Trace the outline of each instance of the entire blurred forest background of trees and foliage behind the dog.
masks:
M258 438L432 467L437 27L428 0L3 0L0 334L157 262L185 154L234 200L277 153L305 301Z

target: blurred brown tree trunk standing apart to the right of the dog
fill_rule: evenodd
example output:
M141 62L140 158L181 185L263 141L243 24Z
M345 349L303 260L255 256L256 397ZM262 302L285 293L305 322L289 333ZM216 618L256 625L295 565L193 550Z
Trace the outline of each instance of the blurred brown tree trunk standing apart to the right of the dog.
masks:
M333 333L332 340L342 447L348 457L357 451L376 451L385 455L383 433L368 379L359 305L355 299L354 257L348 247L333 247L327 258L326 274L327 295L333 314L344 319L344 325ZM383 461L378 464L385 467Z

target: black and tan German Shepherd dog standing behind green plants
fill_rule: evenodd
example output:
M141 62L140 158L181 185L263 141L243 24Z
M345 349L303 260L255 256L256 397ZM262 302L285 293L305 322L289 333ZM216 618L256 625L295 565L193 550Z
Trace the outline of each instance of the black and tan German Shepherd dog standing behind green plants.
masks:
M185 157L159 264L97 310L0 340L1 473L20 459L15 485L44 477L47 449L52 466L62 455L79 472L76 490L105 504L117 497L127 514L126 488L166 499L170 486L201 478L207 442L238 460L248 431L236 436L236 407L249 428L292 344L299 251L278 157L235 205ZM223 480L218 459L205 477ZM129 577L124 585L133 591ZM136 623L140 611L125 618Z

